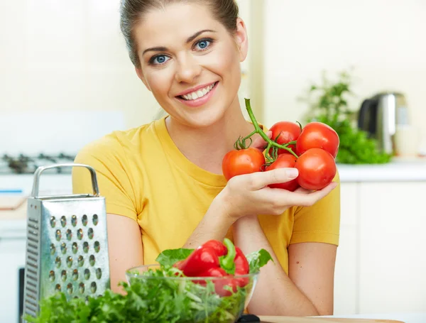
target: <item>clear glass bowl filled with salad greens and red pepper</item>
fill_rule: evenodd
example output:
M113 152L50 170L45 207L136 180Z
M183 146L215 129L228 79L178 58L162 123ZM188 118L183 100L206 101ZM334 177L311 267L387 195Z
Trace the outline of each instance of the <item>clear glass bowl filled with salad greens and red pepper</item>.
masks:
M127 270L126 278L140 297L141 322L233 323L249 305L258 273L170 277L160 265L142 265Z

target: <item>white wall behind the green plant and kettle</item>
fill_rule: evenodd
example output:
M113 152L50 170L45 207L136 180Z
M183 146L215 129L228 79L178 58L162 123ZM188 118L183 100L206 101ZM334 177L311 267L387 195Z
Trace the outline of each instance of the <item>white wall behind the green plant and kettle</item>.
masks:
M426 121L426 1L265 1L265 122L300 120L296 101L322 70L354 66L361 100L382 90L405 93L413 124ZM426 138L426 128L422 130Z

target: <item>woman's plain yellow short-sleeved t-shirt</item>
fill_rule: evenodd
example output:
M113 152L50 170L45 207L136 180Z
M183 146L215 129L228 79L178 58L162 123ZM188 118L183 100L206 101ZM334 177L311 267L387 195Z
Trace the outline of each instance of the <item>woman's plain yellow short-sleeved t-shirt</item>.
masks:
M107 213L138 222L145 264L155 263L164 249L181 248L226 185L223 175L203 170L185 158L168 134L165 117L109 133L85 146L75 163L96 170ZM87 170L75 168L72 185L75 193L92 192ZM291 207L280 216L260 215L259 221L288 273L291 243L338 244L339 187L312 207ZM232 240L231 229L227 236Z

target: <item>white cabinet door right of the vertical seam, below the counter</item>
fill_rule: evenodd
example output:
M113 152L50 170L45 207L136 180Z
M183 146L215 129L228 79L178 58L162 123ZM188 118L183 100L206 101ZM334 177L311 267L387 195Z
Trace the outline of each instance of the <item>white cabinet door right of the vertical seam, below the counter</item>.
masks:
M426 182L362 182L359 311L426 311Z

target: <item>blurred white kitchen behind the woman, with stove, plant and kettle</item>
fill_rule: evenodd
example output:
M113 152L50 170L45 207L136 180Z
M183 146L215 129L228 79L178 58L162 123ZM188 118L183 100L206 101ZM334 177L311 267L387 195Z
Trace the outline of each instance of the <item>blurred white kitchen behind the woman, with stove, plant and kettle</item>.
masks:
M243 109L250 97L266 126L339 119L335 314L426 312L426 1L238 2L250 43ZM35 168L160 116L127 55L118 8L0 0L0 322L21 311ZM40 188L61 194L70 183L69 170L50 171Z

